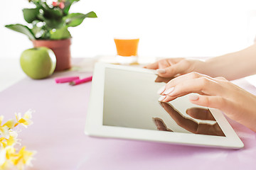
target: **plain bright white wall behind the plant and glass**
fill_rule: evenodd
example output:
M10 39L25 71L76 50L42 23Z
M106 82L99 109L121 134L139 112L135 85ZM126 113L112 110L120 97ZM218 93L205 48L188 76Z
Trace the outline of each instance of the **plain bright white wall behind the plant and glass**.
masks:
M32 47L21 33L4 28L25 23L26 0L1 1L0 57L19 57ZM149 57L216 56L240 50L256 33L253 0L80 0L71 12L95 11L70 28L73 57L115 55L113 37L139 35L139 55Z

